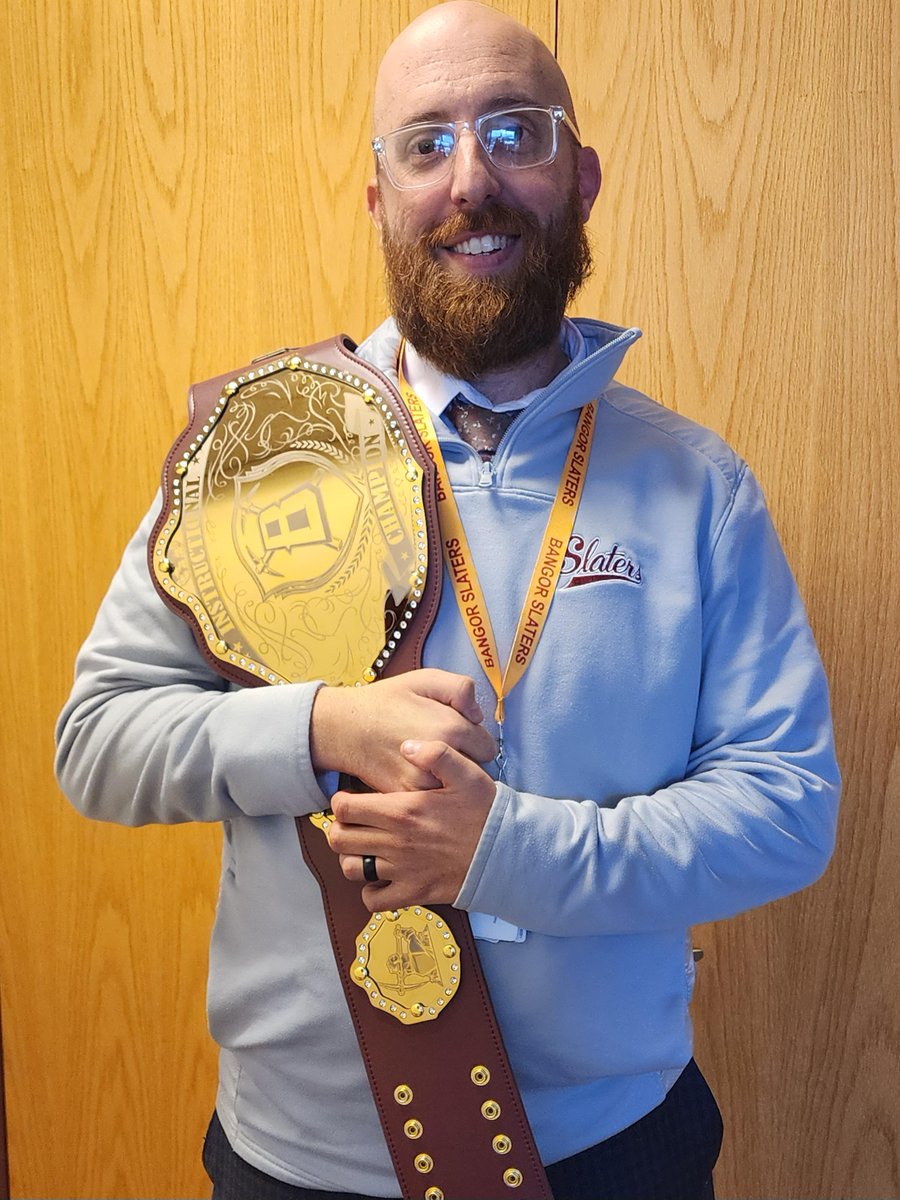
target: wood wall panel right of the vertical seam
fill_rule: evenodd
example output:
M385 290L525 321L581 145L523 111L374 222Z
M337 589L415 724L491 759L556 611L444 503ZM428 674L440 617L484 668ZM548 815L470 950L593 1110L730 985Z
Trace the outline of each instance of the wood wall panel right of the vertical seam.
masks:
M846 779L812 890L697 931L724 1198L900 1195L900 14L560 0L605 162L586 312L744 454L806 598Z

